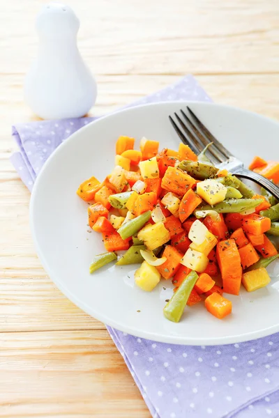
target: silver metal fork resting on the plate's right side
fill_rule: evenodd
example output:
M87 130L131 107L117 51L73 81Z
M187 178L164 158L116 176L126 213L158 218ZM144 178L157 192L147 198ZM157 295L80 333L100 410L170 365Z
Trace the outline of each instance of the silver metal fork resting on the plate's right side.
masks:
M278 186L260 174L245 169L243 162L234 157L234 155L232 155L232 153L230 153L229 150L227 150L227 148L225 148L225 146L223 146L220 141L218 141L218 139L211 134L211 132L209 132L204 124L199 121L199 118L197 118L193 110L191 110L188 106L187 109L189 116L187 116L183 109L180 109L181 116L174 113L180 127L178 123L174 121L174 118L169 116L172 126L184 144L190 146L194 153L199 154L206 145L213 143L210 149L208 148L206 150L206 153L217 167L220 169L227 169L236 177L255 181L255 183L264 187L264 189L266 189L269 193L273 194L276 199L279 199Z

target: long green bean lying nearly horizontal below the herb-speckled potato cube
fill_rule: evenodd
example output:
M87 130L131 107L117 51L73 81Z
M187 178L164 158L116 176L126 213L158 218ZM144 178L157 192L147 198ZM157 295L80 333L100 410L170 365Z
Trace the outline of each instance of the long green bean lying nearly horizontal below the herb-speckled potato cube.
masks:
M199 210L216 210L218 213L239 213L244 210L257 208L262 203L262 199L229 199L216 205L200 206Z

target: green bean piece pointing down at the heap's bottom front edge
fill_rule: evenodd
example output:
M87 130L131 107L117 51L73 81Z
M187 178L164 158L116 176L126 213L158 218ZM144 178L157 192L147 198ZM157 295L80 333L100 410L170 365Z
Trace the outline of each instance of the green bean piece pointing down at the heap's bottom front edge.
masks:
M198 278L199 276L197 273L192 271L182 281L176 293L172 295L172 298L169 302L167 302L165 308L163 309L165 318L172 320L172 322L175 323L179 322L186 307L190 293L193 291L193 287L195 286Z

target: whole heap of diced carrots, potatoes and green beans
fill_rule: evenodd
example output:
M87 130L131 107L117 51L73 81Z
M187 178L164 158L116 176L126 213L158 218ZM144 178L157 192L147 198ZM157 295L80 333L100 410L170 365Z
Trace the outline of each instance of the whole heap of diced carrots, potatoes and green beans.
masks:
M174 295L165 318L179 322L186 307L204 301L216 318L232 312L223 293L239 295L269 284L266 267L279 254L267 235L279 236L279 202L265 189L256 194L186 145L159 151L158 141L116 141L115 167L101 183L84 181L77 194L86 202L89 226L102 234L104 254L89 271L116 261L140 264L135 284L153 291L171 280ZM279 163L255 157L249 167L279 182ZM117 256L117 251L126 252Z

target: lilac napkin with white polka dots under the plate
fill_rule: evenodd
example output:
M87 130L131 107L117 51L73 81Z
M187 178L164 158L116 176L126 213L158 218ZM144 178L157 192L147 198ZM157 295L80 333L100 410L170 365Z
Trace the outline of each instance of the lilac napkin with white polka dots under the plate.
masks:
M211 101L193 76L132 104ZM32 189L61 142L93 118L19 123L11 161ZM264 313L262 313L264 315ZM154 343L107 327L154 418L279 417L279 334L228 346Z

